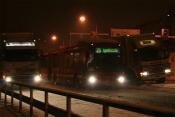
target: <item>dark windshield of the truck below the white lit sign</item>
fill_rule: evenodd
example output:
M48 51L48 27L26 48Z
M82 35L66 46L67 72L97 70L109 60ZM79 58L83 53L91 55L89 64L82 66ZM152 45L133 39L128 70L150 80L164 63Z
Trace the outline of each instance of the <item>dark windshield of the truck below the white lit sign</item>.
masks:
M5 60L7 61L33 61L38 58L36 49L15 49L5 51Z

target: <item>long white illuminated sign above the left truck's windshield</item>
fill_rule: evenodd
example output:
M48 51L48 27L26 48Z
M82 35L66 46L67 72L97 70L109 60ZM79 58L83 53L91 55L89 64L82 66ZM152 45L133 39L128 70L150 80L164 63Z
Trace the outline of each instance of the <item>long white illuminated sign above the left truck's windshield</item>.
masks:
M13 47L13 46L35 46L34 42L8 42L6 43L7 47Z

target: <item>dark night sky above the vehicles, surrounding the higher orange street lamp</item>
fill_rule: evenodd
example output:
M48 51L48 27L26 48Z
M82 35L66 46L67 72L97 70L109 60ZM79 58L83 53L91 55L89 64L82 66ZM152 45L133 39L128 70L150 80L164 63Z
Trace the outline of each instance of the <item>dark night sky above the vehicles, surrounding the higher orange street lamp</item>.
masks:
M137 27L159 19L175 0L0 0L0 31L56 32ZM81 27L79 14L88 23Z

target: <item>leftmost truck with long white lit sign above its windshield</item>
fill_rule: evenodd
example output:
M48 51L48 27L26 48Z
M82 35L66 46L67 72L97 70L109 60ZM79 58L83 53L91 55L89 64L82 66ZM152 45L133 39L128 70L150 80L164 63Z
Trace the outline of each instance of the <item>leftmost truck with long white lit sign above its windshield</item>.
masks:
M3 33L2 76L6 82L40 82L39 50L33 33Z

